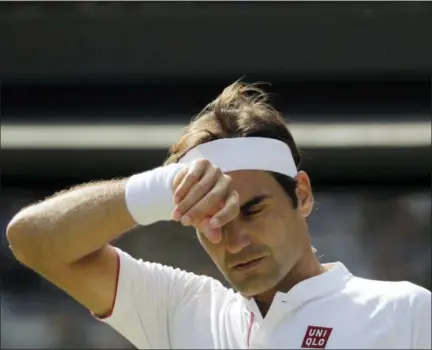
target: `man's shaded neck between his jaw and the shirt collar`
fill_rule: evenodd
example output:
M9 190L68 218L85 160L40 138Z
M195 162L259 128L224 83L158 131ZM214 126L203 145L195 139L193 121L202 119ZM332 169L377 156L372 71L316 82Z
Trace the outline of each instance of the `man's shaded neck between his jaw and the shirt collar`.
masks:
M320 264L312 250L303 254L300 260L293 266L285 278L273 289L254 297L263 316L266 315L277 292L287 293L296 284L324 273L326 270Z

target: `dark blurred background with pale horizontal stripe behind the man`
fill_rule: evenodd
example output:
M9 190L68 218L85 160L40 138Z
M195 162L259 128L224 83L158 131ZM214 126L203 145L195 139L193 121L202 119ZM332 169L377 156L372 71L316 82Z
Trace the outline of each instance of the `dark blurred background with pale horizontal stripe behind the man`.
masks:
M292 122L322 261L430 289L431 32L427 2L1 2L1 348L132 348L14 261L5 227L64 187L158 166L243 76ZM221 278L174 224L116 244Z

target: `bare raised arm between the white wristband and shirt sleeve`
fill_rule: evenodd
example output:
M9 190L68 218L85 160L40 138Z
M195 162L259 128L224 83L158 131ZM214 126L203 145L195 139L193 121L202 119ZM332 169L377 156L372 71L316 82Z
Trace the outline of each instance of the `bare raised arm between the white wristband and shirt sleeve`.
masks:
M85 184L19 212L7 237L15 257L97 314L110 311L117 254L108 243L136 223L126 180Z

